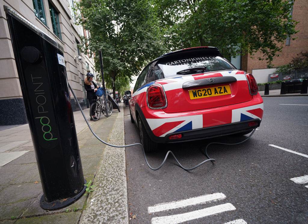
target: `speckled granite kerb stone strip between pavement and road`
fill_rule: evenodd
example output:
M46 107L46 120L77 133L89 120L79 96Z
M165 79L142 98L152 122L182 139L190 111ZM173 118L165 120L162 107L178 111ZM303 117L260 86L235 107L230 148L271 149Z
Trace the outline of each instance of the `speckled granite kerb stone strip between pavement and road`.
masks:
M124 145L124 113L118 113L108 142ZM114 139L116 136L116 139ZM128 224L128 199L125 149L106 146L93 181L95 190L87 199L87 207L79 224Z

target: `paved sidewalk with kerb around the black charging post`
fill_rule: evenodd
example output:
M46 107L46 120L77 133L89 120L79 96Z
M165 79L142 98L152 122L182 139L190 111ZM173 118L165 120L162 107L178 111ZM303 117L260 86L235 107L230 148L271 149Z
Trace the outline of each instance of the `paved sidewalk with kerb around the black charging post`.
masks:
M98 121L90 122L92 129L104 141L124 144L123 106L120 110L119 113L114 109L109 118L102 116ZM87 115L89 109L84 113ZM92 180L96 185L95 191L90 195L85 193L66 208L43 210L39 206L43 190L29 126L2 130L0 224L128 223L124 149L114 150L99 142L87 128L80 111L74 112L74 119L84 178ZM114 136L118 139L115 140ZM103 222L104 219L106 222Z

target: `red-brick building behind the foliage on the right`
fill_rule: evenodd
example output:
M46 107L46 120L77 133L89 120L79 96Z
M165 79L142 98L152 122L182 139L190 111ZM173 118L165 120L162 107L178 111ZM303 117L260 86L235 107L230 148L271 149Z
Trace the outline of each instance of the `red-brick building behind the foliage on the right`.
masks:
M281 66L288 64L293 58L297 57L301 51L308 51L308 1L307 0L295 0L292 10L292 18L299 23L296 25L296 30L299 30L297 34L294 34L292 38L295 40L286 39L283 44L282 52L279 57L275 57L273 65ZM250 55L238 56L232 58L231 62L239 69L252 73L258 83L267 82L268 74L275 72L274 69L268 69L266 61L259 61L257 58L262 54L257 52L251 58Z

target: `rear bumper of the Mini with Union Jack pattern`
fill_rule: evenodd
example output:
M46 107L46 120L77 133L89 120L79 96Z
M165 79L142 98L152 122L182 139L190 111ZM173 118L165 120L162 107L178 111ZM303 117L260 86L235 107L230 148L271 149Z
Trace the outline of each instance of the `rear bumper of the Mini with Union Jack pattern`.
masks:
M262 120L263 100L257 94L248 102L180 113L165 113L138 105L135 109L152 141L184 142L253 130ZM257 125L249 127L251 121L256 121ZM172 134L183 137L169 140Z

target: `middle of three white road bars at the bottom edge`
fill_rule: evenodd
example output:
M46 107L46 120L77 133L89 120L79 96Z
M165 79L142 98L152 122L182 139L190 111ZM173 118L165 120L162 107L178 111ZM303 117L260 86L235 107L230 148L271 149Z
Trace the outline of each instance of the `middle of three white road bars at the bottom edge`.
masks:
M187 212L183 214L177 215L169 215L169 216L162 216L162 217L155 217L152 218L152 224L176 224L181 222L186 222L196 218L202 218L208 215L213 215L216 213L221 213L225 211L235 210L236 208L231 203L226 203L222 205L217 205L193 212Z

